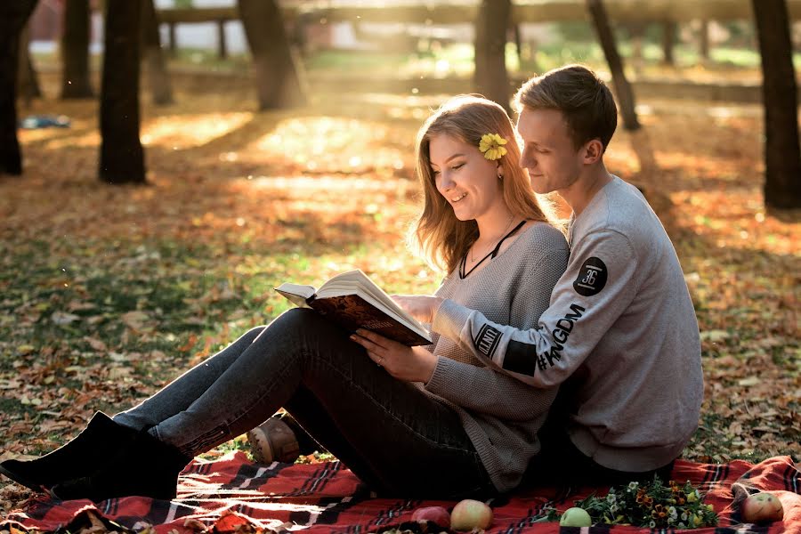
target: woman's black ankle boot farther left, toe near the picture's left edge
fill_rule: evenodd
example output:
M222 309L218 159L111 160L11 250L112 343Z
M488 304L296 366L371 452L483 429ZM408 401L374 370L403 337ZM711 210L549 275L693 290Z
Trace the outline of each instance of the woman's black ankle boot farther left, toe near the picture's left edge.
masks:
M72 441L35 460L5 460L0 473L34 491L92 473L98 458L132 441L137 431L117 425L106 414L94 414L86 428Z

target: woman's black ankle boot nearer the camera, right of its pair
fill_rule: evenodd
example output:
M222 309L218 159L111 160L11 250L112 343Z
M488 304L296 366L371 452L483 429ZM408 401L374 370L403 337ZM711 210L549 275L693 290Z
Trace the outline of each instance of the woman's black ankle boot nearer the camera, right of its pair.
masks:
M93 473L58 484L50 493L61 500L88 498L94 502L132 495L169 500L175 498L178 473L191 460L142 431L116 456L99 462Z

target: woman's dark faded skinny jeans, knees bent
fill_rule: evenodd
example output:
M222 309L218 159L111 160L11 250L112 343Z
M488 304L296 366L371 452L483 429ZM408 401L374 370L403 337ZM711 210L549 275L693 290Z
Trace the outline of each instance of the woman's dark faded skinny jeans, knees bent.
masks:
M188 456L285 408L382 495L465 498L495 492L457 414L376 366L311 310L253 328L114 420Z

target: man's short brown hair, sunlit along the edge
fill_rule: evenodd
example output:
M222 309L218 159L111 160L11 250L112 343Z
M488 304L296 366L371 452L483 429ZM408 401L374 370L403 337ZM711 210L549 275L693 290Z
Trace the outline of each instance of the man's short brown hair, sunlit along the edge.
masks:
M561 111L577 149L598 139L606 150L618 126L618 109L609 87L583 65L567 65L531 78L514 95L514 104L518 112Z

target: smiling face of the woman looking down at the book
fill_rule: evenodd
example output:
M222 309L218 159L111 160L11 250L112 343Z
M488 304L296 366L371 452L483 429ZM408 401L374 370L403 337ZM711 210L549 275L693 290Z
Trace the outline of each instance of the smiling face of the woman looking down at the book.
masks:
M428 145L434 183L460 221L479 219L502 203L498 165L473 146L448 134L434 135Z

